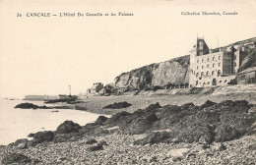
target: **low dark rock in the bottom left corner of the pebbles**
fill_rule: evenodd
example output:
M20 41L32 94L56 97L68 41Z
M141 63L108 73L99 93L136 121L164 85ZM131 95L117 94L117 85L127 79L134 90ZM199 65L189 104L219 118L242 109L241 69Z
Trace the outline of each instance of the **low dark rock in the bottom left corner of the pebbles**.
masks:
M32 163L32 159L21 153L9 153L5 155L2 159L1 164L28 164Z

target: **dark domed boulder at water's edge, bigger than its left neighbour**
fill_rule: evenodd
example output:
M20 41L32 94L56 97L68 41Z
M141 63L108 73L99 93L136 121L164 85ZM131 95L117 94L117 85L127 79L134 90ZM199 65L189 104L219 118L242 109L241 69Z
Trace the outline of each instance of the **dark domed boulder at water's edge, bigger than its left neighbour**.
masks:
M56 134L69 134L69 133L78 133L81 129L80 125L74 123L73 121L65 121L61 125L58 126Z

